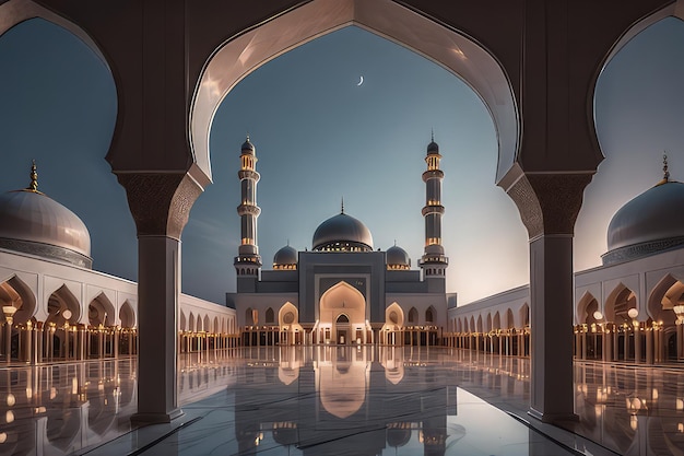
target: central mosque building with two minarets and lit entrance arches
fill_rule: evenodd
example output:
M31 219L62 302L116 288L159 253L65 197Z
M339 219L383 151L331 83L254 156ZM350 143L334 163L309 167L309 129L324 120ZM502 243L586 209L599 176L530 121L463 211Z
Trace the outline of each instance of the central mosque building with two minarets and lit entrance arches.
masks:
M290 245L261 270L257 245L256 148L241 147L241 200L237 208L241 241L235 257L237 292L226 296L234 307L245 346L272 344L438 344L446 327L448 258L441 245L439 147L427 147L425 252L420 269L394 245L374 250L363 222L345 213L323 221L314 233L311 250Z

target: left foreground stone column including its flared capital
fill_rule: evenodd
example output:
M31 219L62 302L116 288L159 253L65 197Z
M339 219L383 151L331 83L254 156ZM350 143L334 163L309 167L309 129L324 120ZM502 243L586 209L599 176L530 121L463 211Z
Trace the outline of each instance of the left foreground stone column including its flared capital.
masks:
M189 174L121 174L138 229L138 413L133 422L169 422L178 408L177 342L180 234L202 192Z

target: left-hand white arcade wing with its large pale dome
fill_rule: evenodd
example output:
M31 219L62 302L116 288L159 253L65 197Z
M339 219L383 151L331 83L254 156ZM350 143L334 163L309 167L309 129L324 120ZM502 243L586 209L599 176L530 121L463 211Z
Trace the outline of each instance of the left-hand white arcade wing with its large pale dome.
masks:
M138 354L138 284L92 269L81 219L38 190L0 195L0 354L40 364ZM235 311L180 294L180 351L237 341Z

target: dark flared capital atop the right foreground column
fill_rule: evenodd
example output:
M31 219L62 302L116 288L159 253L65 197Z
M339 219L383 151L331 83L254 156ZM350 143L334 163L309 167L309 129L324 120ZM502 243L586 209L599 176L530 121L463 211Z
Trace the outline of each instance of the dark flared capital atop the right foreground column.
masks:
M575 233L585 188L592 176L592 172L522 173L506 188L520 211L530 239Z

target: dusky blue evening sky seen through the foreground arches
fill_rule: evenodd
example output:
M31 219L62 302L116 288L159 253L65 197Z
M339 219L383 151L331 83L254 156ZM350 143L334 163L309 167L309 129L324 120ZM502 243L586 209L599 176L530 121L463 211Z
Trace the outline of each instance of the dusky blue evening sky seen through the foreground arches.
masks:
M0 191L30 183L89 226L93 268L137 280L135 227L104 160L117 116L107 67L75 36L43 20L0 36ZM358 85L361 77L363 84ZM684 180L684 24L650 26L609 62L597 84L605 160L585 191L575 269L601 264L620 207L654 185L668 152ZM182 233L182 291L225 302L240 238L239 149L257 148L258 243L264 269L290 243L311 248L340 212L363 221L376 249L423 254L425 151L434 130L445 172L447 290L465 304L529 281L528 236L495 185L496 135L477 95L425 58L357 27L303 45L257 69L226 96L210 137L213 184Z

